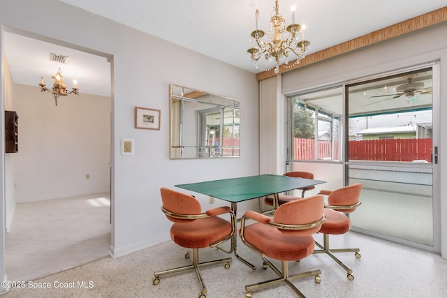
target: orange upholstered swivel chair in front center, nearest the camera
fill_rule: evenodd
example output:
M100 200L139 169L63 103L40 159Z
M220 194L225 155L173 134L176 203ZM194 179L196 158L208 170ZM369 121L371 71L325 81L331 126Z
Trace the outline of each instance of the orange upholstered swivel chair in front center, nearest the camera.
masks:
M298 295L302 292L293 284L293 280L314 276L315 282L320 283L320 270L307 271L300 274L288 274L288 261L301 260L312 255L315 241L312 234L318 232L325 221L323 215L323 195L295 200L279 206L274 211L273 218L255 211L246 211L241 220L240 237L244 244L261 256L264 268L270 267L279 278L246 285L246 297L251 292L266 288L270 285L285 282ZM246 218L256 221L246 225ZM278 269L269 258L281 260L282 269Z

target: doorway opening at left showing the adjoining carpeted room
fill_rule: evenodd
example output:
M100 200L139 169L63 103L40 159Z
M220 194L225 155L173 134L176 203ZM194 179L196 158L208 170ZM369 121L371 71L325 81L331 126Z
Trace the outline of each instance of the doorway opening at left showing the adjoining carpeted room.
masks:
M112 57L16 30L3 31L3 42L3 106L19 116L20 144L5 154L4 260L8 278L23 281L109 255ZM48 64L54 52L68 62ZM56 106L37 83L57 68L67 85L76 76L80 94Z

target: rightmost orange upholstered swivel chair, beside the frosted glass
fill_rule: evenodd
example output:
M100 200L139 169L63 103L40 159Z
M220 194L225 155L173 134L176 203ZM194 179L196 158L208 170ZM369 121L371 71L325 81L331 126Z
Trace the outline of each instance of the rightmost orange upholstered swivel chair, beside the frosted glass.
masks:
M359 248L329 248L330 234L344 234L351 229L351 221L345 214L356 211L356 208L362 203L360 201L360 193L362 191L362 184L353 184L338 188L335 191L320 191L323 195L328 195L328 204L325 204L324 214L326 221L321 225L320 233L323 234L323 245L316 242L316 245L321 248L314 251L314 253L327 253L330 258L335 260L338 265L342 266L348 273L349 280L353 280L352 269L344 265L342 261L337 259L334 253L356 253L356 258L360 258Z

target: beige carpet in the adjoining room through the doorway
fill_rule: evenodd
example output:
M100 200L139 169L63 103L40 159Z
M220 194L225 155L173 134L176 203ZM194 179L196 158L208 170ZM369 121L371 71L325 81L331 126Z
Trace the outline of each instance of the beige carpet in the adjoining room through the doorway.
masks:
M108 257L110 195L17 204L6 234L5 271L29 281Z

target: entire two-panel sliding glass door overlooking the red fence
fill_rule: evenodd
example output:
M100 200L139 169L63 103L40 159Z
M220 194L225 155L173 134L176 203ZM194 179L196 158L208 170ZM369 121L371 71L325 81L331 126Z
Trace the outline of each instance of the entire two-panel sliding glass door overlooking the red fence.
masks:
M288 163L363 184L353 230L439 251L438 80L433 63L288 96Z

